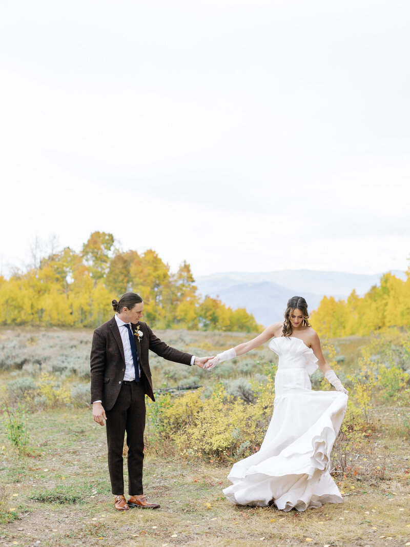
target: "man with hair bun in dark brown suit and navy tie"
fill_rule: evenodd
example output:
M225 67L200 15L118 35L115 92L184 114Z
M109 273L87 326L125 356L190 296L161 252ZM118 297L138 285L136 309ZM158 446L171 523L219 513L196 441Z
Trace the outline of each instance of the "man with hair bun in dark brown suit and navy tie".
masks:
M210 357L198 358L168 346L155 336L143 316L144 302L136 293L125 293L112 302L116 314L98 327L91 346L91 403L93 420L106 423L108 469L114 507L156 509L143 494L145 394L153 401L153 383L148 350L160 357L202 368ZM124 497L122 450L127 434L128 493Z

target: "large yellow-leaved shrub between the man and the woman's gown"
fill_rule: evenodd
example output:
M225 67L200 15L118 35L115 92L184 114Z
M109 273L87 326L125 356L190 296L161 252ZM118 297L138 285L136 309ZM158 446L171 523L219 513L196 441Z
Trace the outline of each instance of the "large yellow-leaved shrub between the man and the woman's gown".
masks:
M157 404L148 404L149 422L158 442L173 446L179 455L229 461L247 456L259 450L265 437L273 381L247 384L246 391L253 393L254 403L233 397L222 384L214 386L209 398L204 398L203 388L177 397L163 395Z

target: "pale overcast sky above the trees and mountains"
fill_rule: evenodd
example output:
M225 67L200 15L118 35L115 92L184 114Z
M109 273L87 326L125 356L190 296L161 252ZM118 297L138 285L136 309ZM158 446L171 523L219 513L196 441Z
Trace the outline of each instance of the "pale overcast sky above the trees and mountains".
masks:
M406 269L406 0L2 0L3 275L92 231L173 271Z

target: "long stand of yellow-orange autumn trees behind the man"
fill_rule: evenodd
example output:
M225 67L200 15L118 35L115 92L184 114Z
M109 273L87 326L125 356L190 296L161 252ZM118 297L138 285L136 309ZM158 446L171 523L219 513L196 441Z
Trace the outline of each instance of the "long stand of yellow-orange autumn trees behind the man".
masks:
M156 328L260 329L244 308L201 299L185 261L174 274L155 251L121 251L106 232L93 232L79 253L66 247L8 280L0 276L0 324L96 327L128 290L142 296L144 319Z

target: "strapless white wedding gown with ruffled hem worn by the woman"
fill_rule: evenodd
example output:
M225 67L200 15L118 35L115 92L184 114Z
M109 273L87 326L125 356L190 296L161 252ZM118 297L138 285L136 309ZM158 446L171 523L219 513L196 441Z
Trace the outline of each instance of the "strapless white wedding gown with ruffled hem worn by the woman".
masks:
M309 374L318 359L300 338L273 338L269 347L279 356L273 416L259 452L233 465L225 496L238 505L274 503L284 511L341 503L330 453L348 396L312 391Z

